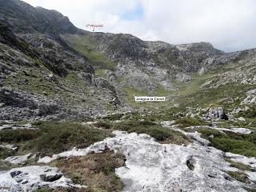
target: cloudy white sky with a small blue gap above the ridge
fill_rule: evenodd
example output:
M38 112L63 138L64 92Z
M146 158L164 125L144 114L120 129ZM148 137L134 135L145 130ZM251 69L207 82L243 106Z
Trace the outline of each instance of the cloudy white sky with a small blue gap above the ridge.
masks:
M255 0L25 0L58 10L75 26L171 44L211 42L226 52L256 47Z

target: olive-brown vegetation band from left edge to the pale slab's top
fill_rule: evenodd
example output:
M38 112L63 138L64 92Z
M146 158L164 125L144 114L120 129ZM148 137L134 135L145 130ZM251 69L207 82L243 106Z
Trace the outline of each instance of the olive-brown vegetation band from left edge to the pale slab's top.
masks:
M94 142L114 136L111 130L95 129L74 122L37 122L38 130L0 130L0 142L15 143L18 154L40 152L56 154L74 146L86 148ZM0 150L0 158L8 151Z

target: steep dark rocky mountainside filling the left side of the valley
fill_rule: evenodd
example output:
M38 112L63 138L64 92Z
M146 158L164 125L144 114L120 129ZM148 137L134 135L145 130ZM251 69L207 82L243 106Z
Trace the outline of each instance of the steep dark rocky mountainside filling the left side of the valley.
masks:
M88 118L121 105L114 86L61 38L80 33L68 18L19 0L0 6L0 121Z

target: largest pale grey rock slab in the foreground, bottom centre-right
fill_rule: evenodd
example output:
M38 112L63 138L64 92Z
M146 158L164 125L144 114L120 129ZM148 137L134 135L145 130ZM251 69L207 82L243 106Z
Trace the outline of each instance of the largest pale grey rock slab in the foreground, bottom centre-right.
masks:
M224 160L224 153L210 146L193 142L188 146L160 144L146 134L127 134L114 131L116 137L84 150L70 150L53 158L82 156L101 152L106 147L126 155L126 166L116 169L122 179L123 191L246 191L246 185L230 178L226 171L233 170Z

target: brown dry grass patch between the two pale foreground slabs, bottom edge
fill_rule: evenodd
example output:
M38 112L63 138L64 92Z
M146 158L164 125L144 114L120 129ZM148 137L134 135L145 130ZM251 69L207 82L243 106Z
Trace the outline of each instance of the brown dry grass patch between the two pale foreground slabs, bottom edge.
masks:
M123 184L115 174L115 169L125 165L123 154L104 150L90 153L85 157L62 158L53 162L76 184L89 186L88 191L121 191Z

